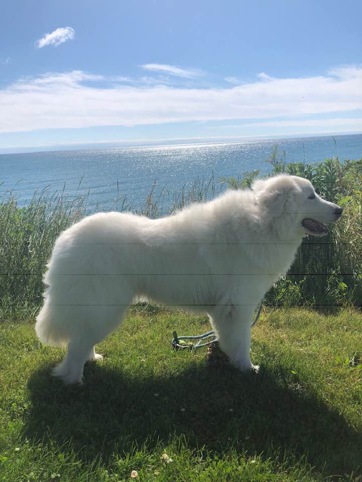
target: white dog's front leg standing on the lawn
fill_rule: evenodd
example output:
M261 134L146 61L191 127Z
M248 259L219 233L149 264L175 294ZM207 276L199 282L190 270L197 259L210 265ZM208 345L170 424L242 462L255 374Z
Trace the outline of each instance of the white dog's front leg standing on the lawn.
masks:
M221 349L232 365L241 371L258 371L250 359L253 306L215 306L210 321L217 332Z

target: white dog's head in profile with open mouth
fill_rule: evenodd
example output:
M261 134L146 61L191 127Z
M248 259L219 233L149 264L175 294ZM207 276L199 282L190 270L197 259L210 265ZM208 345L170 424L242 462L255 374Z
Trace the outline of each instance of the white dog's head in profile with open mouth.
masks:
M324 223L336 221L342 208L322 199L307 179L288 174L257 179L252 185L257 203L281 237L323 236Z

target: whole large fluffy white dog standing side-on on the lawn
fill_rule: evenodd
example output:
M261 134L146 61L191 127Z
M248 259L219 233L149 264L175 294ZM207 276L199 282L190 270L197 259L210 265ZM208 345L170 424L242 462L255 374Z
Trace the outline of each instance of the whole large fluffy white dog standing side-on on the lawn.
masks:
M36 332L44 343L68 345L53 374L81 382L84 363L102 358L95 343L140 298L206 312L231 363L254 369L255 307L286 274L306 233L325 233L321 223L341 212L306 179L279 175L160 219L119 212L82 219L58 237L44 276Z

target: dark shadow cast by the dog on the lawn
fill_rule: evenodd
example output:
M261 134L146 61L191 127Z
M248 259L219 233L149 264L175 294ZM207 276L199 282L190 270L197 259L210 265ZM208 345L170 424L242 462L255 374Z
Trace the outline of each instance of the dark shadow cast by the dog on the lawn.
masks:
M242 375L226 366L194 367L164 378L140 369L135 379L92 363L84 375L84 385L66 387L49 369L34 373L24 436L58 446L71 438L82 459L101 453L107 461L115 446L119 453L135 442L152 449L184 434L189 448L304 456L325 475L357 474L362 434L298 383L288 387L282 369L276 376L265 369Z

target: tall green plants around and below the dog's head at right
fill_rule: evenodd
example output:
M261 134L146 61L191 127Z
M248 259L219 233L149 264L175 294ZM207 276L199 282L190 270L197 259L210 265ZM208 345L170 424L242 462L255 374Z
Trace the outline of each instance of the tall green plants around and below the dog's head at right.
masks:
M309 179L323 198L344 208L341 219L322 238L304 238L287 276L265 296L269 304L313 304L330 307L362 303L362 159L327 158L324 162L286 163L286 153L275 146L267 161L269 175L288 173ZM231 189L249 187L259 175L224 179Z

